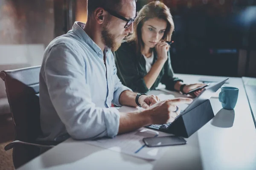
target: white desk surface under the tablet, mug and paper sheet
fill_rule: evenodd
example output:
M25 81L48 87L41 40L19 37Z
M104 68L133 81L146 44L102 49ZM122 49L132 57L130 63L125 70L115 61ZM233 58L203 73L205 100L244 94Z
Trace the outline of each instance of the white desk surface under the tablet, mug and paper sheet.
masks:
M176 76L185 83L197 82L203 77ZM224 110L217 98L210 99L215 117L186 139L186 145L168 147L157 161L145 161L68 139L19 170L256 170L256 129L243 82L241 78L230 78L226 86L229 85L239 88L236 108L233 111Z

